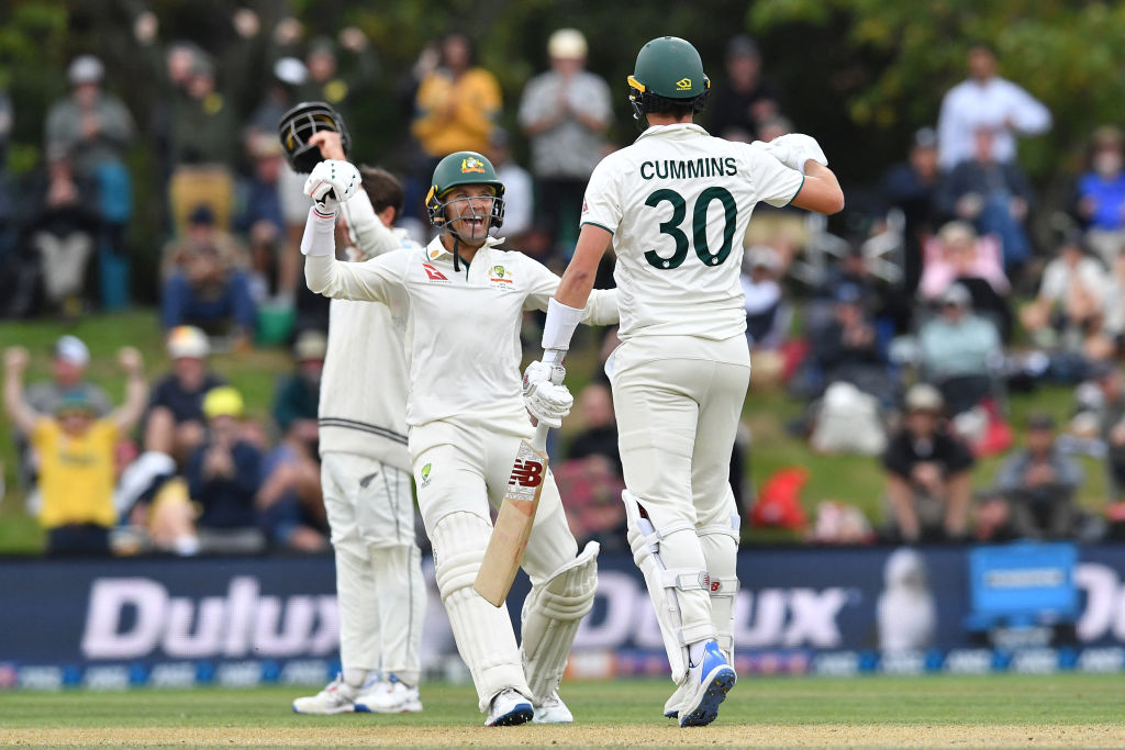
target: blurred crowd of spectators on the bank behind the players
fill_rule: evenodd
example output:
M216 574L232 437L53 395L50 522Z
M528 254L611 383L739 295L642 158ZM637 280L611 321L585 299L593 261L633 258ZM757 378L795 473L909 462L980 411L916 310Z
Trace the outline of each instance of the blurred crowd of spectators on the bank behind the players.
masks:
M338 39L306 38L291 18L263 29L244 9L231 24L238 43L216 55L195 42L164 39L152 13L136 19L136 42L162 91L143 117L110 92L112 71L101 61L75 57L66 71L71 91L46 116L42 165L20 190L26 210L14 232L0 233L17 237L0 247L18 280L4 311L76 317L128 305L134 183L152 179L132 174L127 154L137 142L152 147L166 237L152 281L172 371L153 381L148 396L130 385L125 405L112 410L82 379L89 352L73 337L55 347L52 383L25 391L27 354L12 350L4 361L20 481L33 498L42 496L52 550L71 539L60 528L91 524L117 531L81 532L74 549L325 549L316 396L326 304L302 283L297 245L308 202L276 132L300 101L326 101L346 119L350 103L384 71L354 27ZM614 89L595 72L596 58L587 67L577 29L556 30L544 52L547 70L529 79L518 102L504 101L464 33L434 39L399 79L413 114L402 225L416 240L430 231L423 198L434 164L474 150L494 160L506 186L507 246L556 268L565 263L586 180L615 147ZM264 60L269 74L246 108L240 102L252 99L253 82L242 72L254 60ZM723 62L700 118L704 127L745 142L800 129L754 39L731 38ZM832 237L801 211L763 206L744 238L755 387L783 385L807 404L791 427L813 451L881 457L885 470L885 514L870 519L878 534L834 506L826 512L848 517L853 531L834 536L832 522L818 524L812 536L820 542L1095 537L1106 525L1074 501L1083 480L1068 455L1074 445L1105 457L1110 519L1119 507L1125 398L1115 363L1125 354L1125 139L1114 127L1095 129L1088 169L1074 175L1066 205L1044 207L1017 153L1022 136L1051 128L1048 107L1000 78L987 46L974 46L966 62L969 75L946 93L936 123L917 130L902 162L873 187L878 200L863 217L870 232ZM505 108L518 130L501 127ZM11 118L0 92L0 150ZM530 154L526 169L514 156L522 151L513 148L516 139ZM14 216L11 199L0 191L2 220ZM1044 240L1030 217L1051 210L1068 228ZM612 283L608 263L601 286ZM269 424L246 418L238 391L207 365L215 349L242 352L259 343L285 343L295 353ZM124 352L122 365L133 383L140 361ZM1076 390L1079 416L1062 437L1045 415L1023 425L1008 413L1010 388L1046 381L1084 382ZM137 398L143 414L134 414ZM615 549L623 543L615 501L623 484L612 395L595 381L577 401L580 433L567 441L555 471L575 533ZM1017 450L1014 436L1025 428L1026 449ZM101 473L97 481L61 480L81 485L89 500L69 501L63 513L48 489L66 462L44 461L43 451L57 442L54 432L83 430L99 436L83 450ZM129 443L133 453L123 448ZM736 480L745 444L732 457ZM990 455L1004 455L1002 468L974 496L984 484L976 462ZM107 466L117 477L108 486ZM745 510L752 493L744 498L736 484Z

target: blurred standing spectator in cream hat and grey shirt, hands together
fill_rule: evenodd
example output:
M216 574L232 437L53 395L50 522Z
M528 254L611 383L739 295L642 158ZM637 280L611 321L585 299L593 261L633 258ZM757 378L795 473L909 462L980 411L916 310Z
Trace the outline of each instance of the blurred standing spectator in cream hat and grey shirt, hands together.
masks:
M520 127L531 139L537 226L556 253L577 240L586 182L605 150L613 121L610 88L586 64L586 37L561 28L547 43L551 70L534 76L520 99Z

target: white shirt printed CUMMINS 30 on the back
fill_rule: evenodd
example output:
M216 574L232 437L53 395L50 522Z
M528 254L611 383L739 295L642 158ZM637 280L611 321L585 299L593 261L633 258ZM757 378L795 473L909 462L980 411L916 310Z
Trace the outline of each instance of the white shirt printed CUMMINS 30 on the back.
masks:
M621 328L723 341L746 331L739 273L755 204L789 204L804 175L693 124L655 126L602 160L582 224L613 233Z

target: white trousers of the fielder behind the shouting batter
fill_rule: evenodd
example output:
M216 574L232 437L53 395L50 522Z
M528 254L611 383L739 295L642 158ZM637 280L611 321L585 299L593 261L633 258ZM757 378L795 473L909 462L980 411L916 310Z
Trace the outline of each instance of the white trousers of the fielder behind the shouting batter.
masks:
M321 485L336 559L340 661L417 685L425 580L411 476L375 459L327 452Z

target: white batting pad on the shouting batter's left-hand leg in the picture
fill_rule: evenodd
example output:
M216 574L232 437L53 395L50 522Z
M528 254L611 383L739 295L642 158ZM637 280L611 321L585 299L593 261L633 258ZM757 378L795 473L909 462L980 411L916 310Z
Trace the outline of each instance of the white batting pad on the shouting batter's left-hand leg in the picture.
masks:
M505 688L531 695L507 607L494 607L472 590L490 533L487 518L460 512L442 517L430 534L438 590L480 711L488 711L493 696Z

